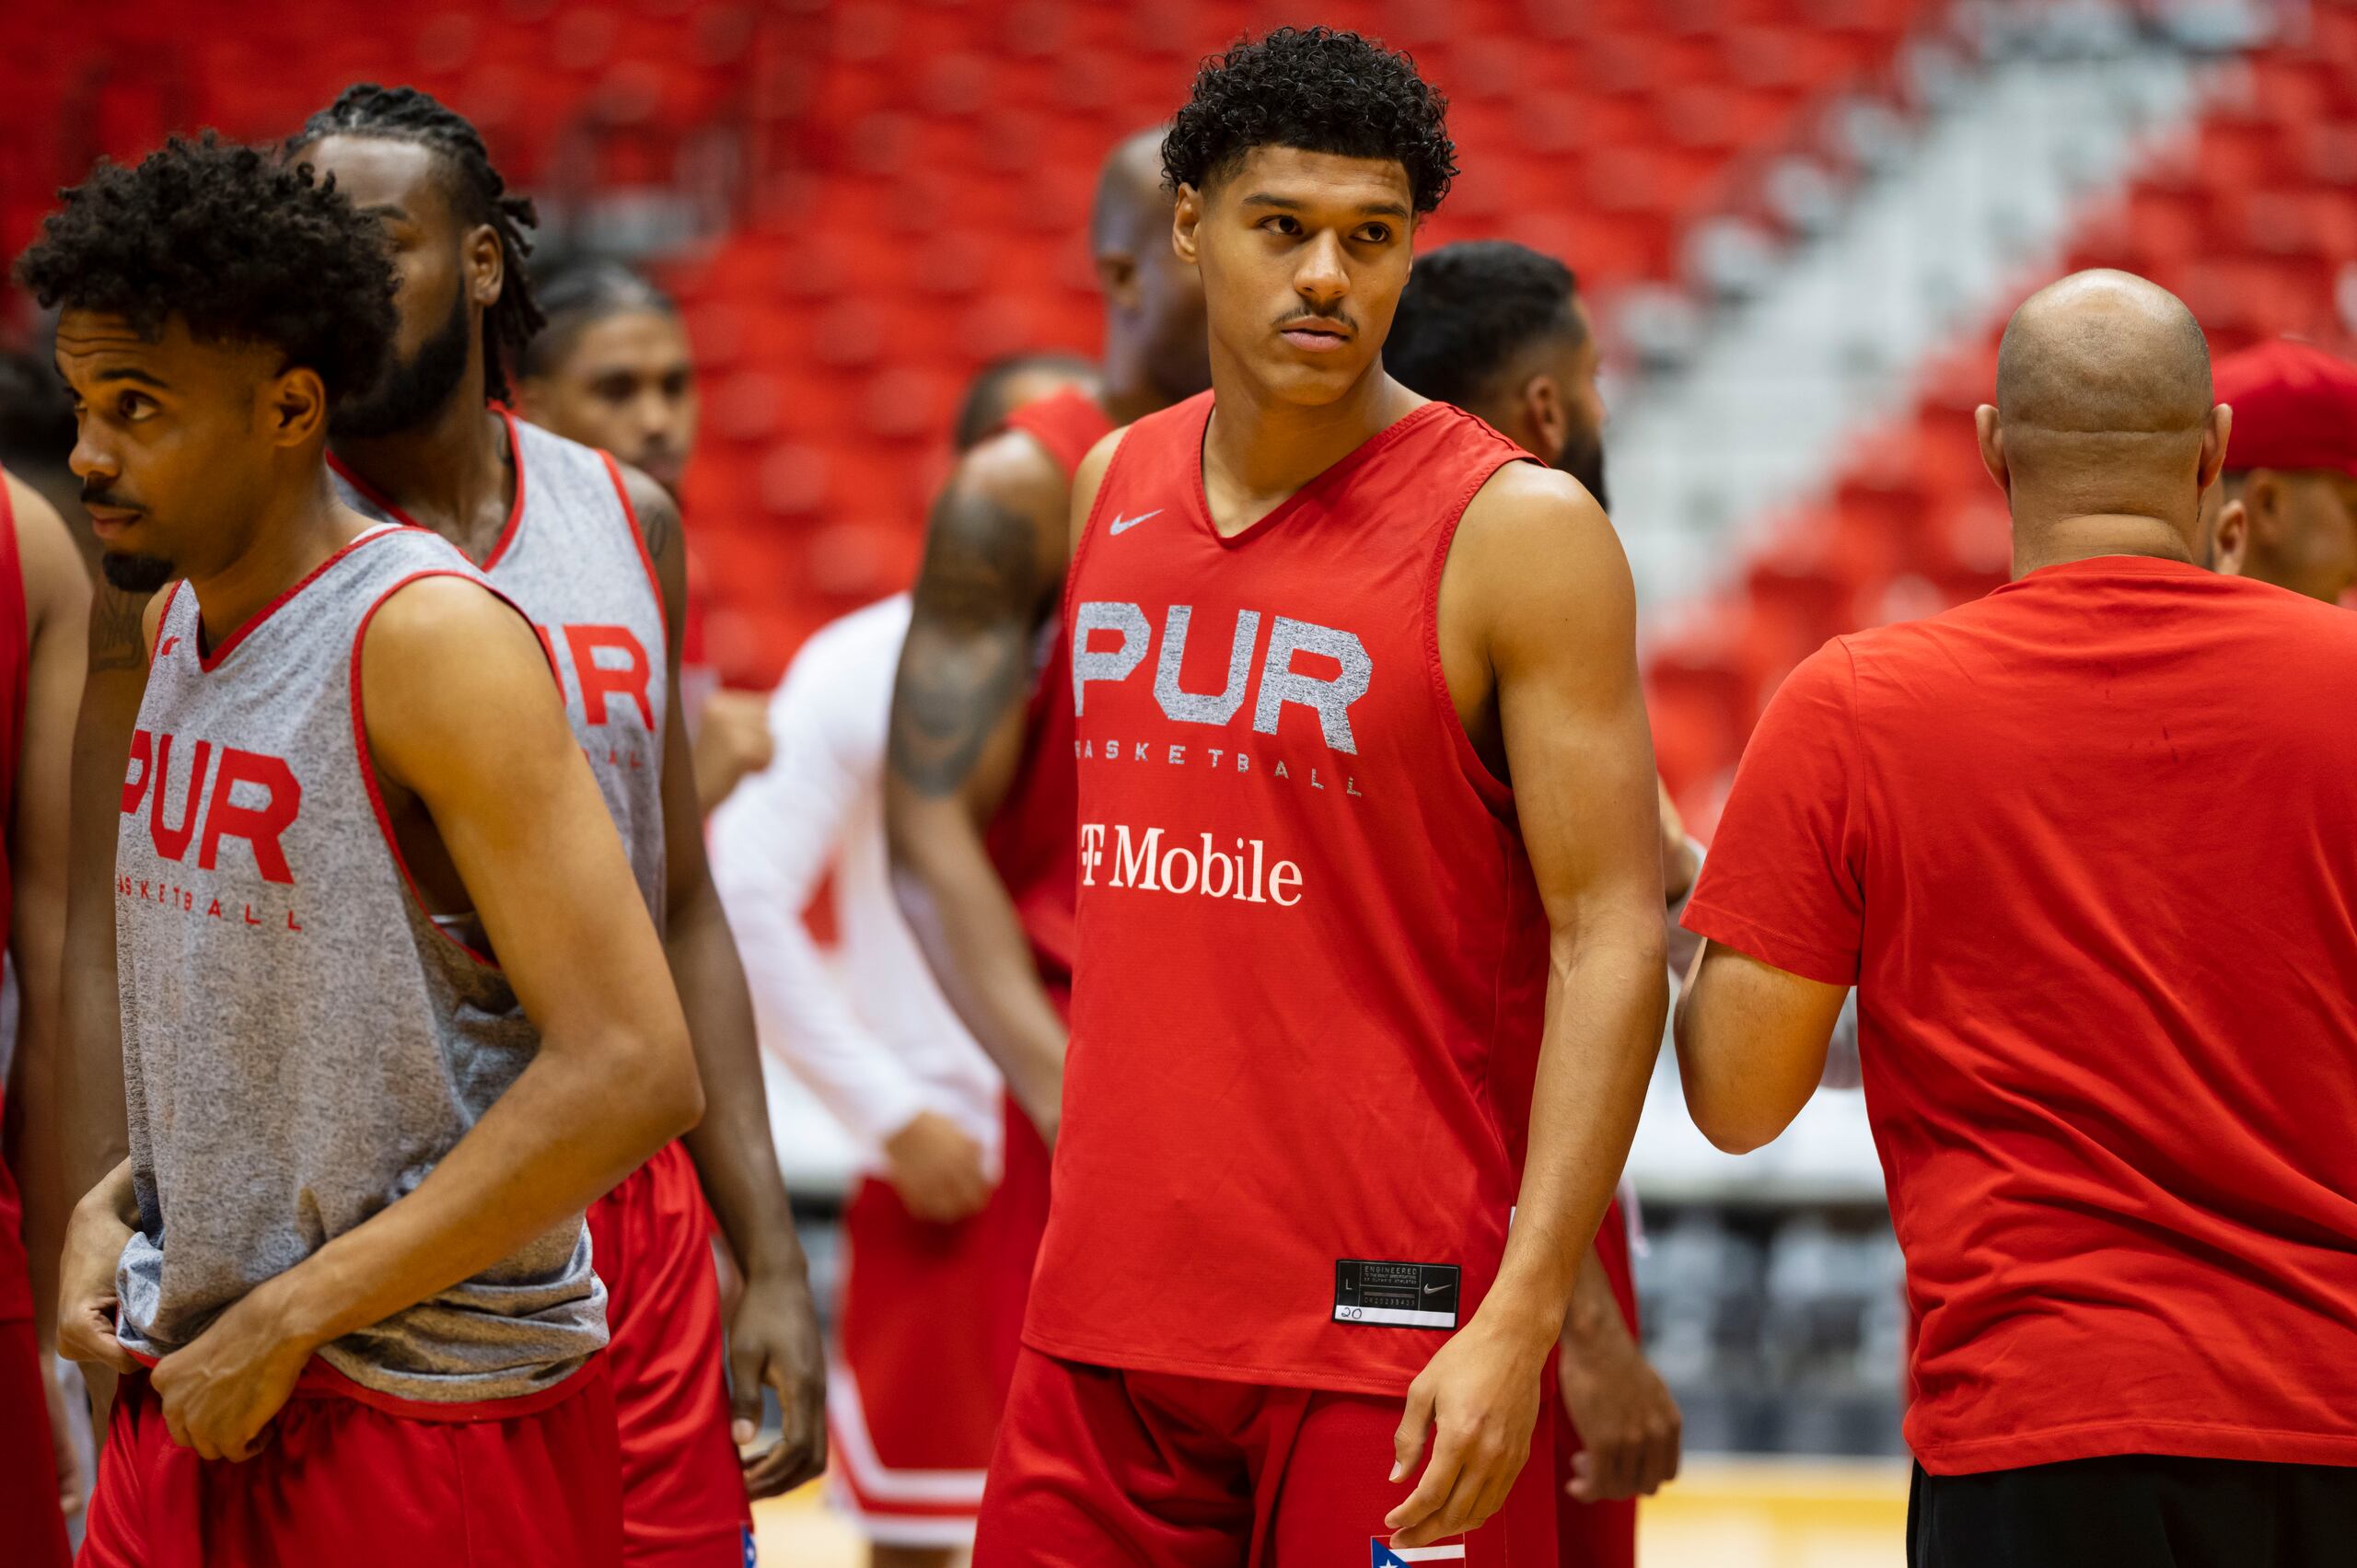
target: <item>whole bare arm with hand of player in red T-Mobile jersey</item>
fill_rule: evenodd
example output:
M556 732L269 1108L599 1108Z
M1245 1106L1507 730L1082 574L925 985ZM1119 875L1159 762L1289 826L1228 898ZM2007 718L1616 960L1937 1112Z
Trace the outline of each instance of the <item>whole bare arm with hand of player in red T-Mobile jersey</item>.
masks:
M1478 1523L1520 1471L1539 1370L1629 1155L1669 1004L1636 592L1577 483L1511 465L1473 500L1442 573L1440 658L1475 743L1513 780L1551 971L1497 1283L1409 1386L1400 1471L1426 1422L1438 1436L1417 1493L1391 1514L1402 1544Z

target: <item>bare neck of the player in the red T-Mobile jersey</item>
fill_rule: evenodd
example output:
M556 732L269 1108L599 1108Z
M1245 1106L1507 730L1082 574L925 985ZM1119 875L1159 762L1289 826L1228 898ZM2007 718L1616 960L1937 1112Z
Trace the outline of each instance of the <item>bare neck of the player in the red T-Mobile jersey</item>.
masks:
M1384 375L1381 358L1332 403L1275 398L1221 358L1214 349L1211 389L1219 396L1202 443L1204 488L1226 490L1247 514L1219 519L1223 526L1249 526L1424 401Z

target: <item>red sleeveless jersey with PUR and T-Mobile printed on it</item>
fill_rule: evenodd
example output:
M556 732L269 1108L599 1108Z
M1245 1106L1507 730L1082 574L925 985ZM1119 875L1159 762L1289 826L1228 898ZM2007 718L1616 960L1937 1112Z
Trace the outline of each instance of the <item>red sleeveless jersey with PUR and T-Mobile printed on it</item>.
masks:
M1523 453L1426 403L1221 538L1209 417L1129 427L1065 587L1080 946L1025 1337L1391 1396L1497 1276L1546 1000L1435 630Z

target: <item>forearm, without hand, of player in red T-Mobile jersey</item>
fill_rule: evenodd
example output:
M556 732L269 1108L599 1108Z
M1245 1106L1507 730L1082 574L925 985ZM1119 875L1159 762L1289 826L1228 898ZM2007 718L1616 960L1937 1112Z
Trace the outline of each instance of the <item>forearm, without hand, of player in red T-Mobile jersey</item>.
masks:
M1638 922L1631 922L1636 927ZM1558 960L1532 1094L1530 1155L1490 1302L1549 1339L1629 1160L1669 1009L1659 927L1598 936ZM1483 1311L1492 1311L1490 1304Z

